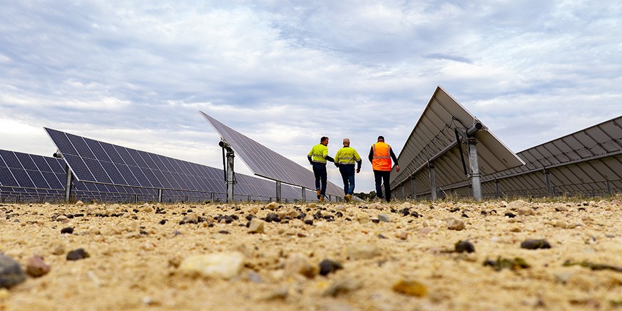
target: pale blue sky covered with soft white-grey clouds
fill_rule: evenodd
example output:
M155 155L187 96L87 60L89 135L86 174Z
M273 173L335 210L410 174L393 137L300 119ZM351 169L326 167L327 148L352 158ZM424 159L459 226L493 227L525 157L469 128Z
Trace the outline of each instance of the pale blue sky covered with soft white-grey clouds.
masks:
M518 152L621 115L621 59L610 0L0 1L0 149L50 156L47 126L222 167L200 110L305 167L322 135L399 154L440 85Z

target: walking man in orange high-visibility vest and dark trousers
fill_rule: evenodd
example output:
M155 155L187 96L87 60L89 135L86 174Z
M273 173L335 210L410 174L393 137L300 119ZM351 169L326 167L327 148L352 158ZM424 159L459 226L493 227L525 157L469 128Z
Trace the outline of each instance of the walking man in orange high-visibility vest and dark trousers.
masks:
M391 177L391 159L395 162L395 171L399 171L397 165L397 157L393 153L390 145L384 142L384 137L378 136L378 142L372 145L369 151L369 161L372 162L374 170L374 179L376 182L376 196L380 199L386 198L386 202L391 200L391 186L389 180ZM384 195L382 195L381 184L384 183Z

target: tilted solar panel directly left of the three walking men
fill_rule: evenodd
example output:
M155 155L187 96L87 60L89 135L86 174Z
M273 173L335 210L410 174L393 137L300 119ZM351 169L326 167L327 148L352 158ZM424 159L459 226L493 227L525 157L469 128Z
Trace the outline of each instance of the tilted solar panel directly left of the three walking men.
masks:
M226 126L209 115L199 111L205 120L214 127L214 130L220 134L244 163L257 175L272 180L277 180L289 185L304 187L306 189L315 189L315 177L312 171L305 169L296 162L281 156L267 147L263 146L238 131ZM328 182L326 194L334 196L342 196L343 189ZM315 198L307 196L307 198Z

